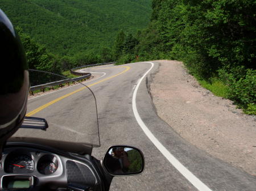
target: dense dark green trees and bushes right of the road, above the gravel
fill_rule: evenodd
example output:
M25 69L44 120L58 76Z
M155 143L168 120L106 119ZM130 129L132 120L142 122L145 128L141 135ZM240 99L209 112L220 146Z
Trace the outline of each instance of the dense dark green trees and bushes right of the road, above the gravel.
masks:
M256 2L153 0L152 9L150 25L137 34L132 52L123 48L119 62L136 55L183 61L196 78L221 80L229 99L256 114Z

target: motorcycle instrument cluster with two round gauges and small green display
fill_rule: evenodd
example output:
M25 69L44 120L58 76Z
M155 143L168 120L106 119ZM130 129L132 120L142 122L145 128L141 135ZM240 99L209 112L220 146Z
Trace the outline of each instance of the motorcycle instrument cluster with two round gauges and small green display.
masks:
M65 177L63 157L48 151L28 147L9 147L0 160L0 190L34 190ZM65 184L65 178L63 179Z

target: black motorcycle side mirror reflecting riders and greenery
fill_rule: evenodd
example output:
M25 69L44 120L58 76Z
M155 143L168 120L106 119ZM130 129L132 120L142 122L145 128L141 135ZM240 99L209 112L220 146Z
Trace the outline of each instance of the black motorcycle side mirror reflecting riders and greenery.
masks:
M104 156L103 166L112 176L139 175L144 171L144 156L135 147L112 146Z

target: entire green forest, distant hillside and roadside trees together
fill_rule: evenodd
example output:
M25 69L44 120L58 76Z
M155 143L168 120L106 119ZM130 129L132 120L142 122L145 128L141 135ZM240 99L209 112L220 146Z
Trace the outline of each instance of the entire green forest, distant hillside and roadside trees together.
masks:
M19 26L31 68L62 73L109 61L179 60L202 86L256 114L253 0L27 0L38 9L34 20L15 7L20 1L0 2Z

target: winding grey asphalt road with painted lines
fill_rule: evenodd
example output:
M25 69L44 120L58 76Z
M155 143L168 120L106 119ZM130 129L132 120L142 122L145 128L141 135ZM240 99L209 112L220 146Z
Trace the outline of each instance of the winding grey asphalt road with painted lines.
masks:
M192 146L157 116L148 93L148 84L159 67L157 62L154 62L154 67L143 78L138 88L136 96L138 113L155 138L192 175L185 175L188 177L186 179L184 174L177 170L150 141L134 116L132 101L139 79L150 67L151 63L141 62L82 69L93 72L92 74L95 76L92 81L85 82L87 86L90 86L97 99L101 147L94 148L93 156L98 159L103 158L108 147L112 145L132 145L141 148L146 160L146 168L142 175L114 177L110 190L256 190L256 177ZM73 86L33 98L28 101L28 112L78 89L79 86ZM85 95L79 91L36 113L41 117L58 118L59 120L52 124L62 123L67 131L61 130L62 127L59 125L59 130L56 130L57 127L54 131L47 130L48 133L22 130L16 135L30 134L34 137L45 136L69 141L73 140L72 135L76 135L76 142L93 142L94 145L97 145L97 132L94 132L92 128L96 121L88 121L89 118L93 118L95 110L92 110L90 114L87 113L90 115L89 117L86 117L84 112L76 112L77 108L80 108L81 111L81 108L93 107L92 101L91 105L86 105L91 98ZM67 109L64 111L64 106L69 108L69 111ZM79 125L81 120L89 127L89 130L82 129L83 127ZM198 186L198 182L193 179L193 176L197 177L205 187Z

